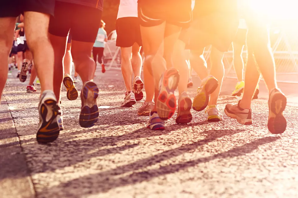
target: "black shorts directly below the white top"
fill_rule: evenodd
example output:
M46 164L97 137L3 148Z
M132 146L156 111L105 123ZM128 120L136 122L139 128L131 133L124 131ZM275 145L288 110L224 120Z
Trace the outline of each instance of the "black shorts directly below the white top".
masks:
M123 17L116 20L116 46L131 47L134 43L142 46L140 23L137 17Z

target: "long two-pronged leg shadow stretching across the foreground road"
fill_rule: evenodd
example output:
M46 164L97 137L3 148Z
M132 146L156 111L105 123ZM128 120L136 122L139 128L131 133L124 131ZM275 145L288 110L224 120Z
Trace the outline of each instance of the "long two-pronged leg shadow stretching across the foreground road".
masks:
M132 185L143 181L151 180L161 175L175 173L185 168L195 166L199 163L206 163L218 158L228 158L228 157L232 158L232 157L245 155L247 153L250 153L256 150L259 145L274 142L280 138L280 137L264 137L264 138L260 138L258 140L252 141L243 146L235 147L229 151L216 154L210 157L199 158L188 162L181 162L178 164L161 166L160 168L152 169L149 171L134 172L142 168L147 168L149 166L157 164L161 161L164 161L173 157L177 157L193 149L197 149L203 146L204 144L208 144L209 142L216 140L217 138L220 138L226 135L237 134L239 132L241 132L241 130L205 131L204 133L206 134L206 139L194 142L192 144L183 145L179 148L164 151L160 154L157 154L148 158L144 158L127 165L122 165L112 170L108 170L98 174L87 175L87 176L80 177L78 179L71 180L69 182L60 183L58 186L54 186L50 189L44 189L44 191L47 194L49 193L48 194L49 197L54 196L54 195L51 195L51 193L58 192L58 191L59 192L63 191L62 193L65 192L65 194L62 195L62 197L86 196L88 193L86 194L84 192L90 192L89 194L104 193L109 191L110 189L114 189L120 186ZM130 135L130 134L127 134L127 135ZM132 172L132 171L133 173L130 175L119 177L121 174ZM75 193L72 193L74 186L85 186L85 187L82 187L83 189L80 189L80 190L75 190Z

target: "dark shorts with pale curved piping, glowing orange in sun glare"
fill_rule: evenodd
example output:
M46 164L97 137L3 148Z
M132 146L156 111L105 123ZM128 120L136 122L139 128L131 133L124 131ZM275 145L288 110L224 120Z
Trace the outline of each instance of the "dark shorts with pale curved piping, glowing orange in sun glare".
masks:
M188 27L192 21L191 0L139 0L138 16L140 25L144 27L164 22Z

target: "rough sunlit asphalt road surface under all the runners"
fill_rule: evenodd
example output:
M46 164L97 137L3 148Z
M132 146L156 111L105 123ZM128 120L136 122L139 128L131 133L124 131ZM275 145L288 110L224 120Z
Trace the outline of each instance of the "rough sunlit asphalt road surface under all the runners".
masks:
M120 107L121 72L98 69L97 124L79 126L81 101L68 101L63 88L64 130L42 145L36 142L40 88L26 93L26 82L15 75L9 75L0 105L1 198L298 197L298 100L284 112L287 130L272 135L265 85L252 104L252 125L224 114L235 84L226 79L218 103L223 121L208 123L204 111L192 110L190 124L177 125L174 115L166 130L151 131L145 127L148 117L137 116L141 102ZM199 79L194 82L199 86ZM296 94L281 86L287 95ZM195 93L189 89L192 98Z

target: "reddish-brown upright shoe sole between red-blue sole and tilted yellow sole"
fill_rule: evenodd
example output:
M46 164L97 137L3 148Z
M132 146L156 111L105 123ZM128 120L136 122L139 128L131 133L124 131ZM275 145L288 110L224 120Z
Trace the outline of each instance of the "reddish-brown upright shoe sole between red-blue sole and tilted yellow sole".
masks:
M178 114L176 118L177 124L187 124L192 121L192 114L190 109L192 108L192 100L186 92L182 92L178 99Z

